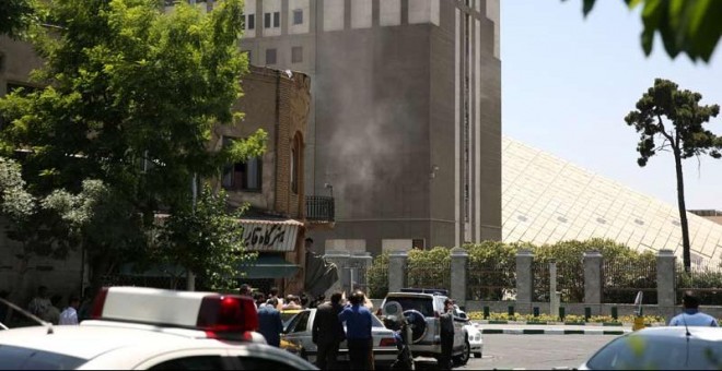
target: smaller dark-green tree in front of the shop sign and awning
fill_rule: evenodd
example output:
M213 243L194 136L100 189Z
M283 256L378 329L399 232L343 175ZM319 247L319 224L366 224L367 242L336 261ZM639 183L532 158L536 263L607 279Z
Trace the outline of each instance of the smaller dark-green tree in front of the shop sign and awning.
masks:
M209 288L236 287L241 264L255 259L243 244L243 227L237 222L243 210L229 213L228 195L203 187L198 201L188 199L163 222L152 261L161 266L185 267L199 275Z

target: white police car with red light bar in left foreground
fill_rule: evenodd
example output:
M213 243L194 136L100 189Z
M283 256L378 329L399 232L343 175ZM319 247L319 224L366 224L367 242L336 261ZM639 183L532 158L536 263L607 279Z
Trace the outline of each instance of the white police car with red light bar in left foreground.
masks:
M2 370L313 370L266 344L251 298L109 287L80 325L0 331Z

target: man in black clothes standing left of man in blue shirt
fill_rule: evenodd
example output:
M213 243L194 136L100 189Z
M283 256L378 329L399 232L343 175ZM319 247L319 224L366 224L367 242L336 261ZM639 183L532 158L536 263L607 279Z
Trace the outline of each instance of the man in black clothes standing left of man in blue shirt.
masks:
M322 370L338 369L338 348L346 339L343 324L338 315L343 310L340 291L334 292L330 302L325 302L316 309L311 338L316 345L316 367Z

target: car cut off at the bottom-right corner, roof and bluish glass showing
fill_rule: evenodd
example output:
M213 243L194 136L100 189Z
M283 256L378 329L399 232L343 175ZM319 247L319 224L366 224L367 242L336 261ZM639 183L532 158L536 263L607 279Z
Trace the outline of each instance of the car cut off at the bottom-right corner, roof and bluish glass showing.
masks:
M722 328L647 327L617 337L580 370L720 370Z

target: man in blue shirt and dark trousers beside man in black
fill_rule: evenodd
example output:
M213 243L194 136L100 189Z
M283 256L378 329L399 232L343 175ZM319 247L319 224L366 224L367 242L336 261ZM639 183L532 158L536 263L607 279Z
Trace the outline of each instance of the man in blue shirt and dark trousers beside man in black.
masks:
M349 348L351 370L373 370L373 337L371 311L363 304L364 294L357 290L338 318L346 323L346 342Z

